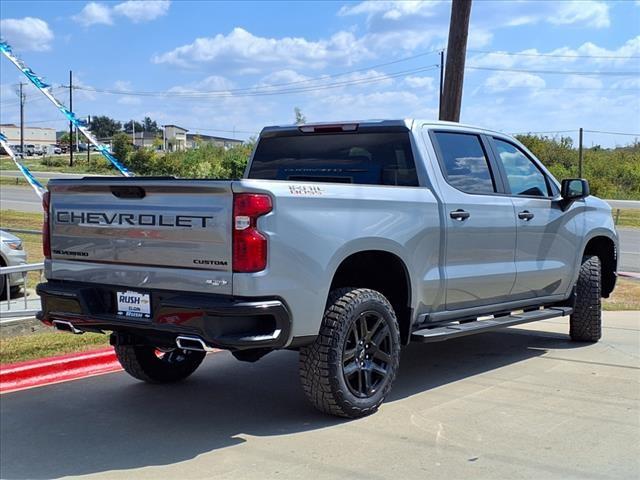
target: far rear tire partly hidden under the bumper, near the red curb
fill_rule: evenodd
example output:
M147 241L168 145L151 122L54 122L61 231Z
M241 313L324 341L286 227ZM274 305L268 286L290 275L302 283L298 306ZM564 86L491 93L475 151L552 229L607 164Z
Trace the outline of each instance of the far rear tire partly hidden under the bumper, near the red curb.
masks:
M184 380L202 363L204 352L173 349L165 353L146 345L117 345L116 356L122 368L134 378L148 383ZM159 355L167 356L160 358Z

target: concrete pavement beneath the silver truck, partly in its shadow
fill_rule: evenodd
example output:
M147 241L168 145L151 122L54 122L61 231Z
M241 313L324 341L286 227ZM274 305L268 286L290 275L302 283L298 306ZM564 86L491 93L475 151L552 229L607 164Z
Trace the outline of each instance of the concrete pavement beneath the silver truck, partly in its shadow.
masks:
M186 382L114 373L5 394L2 478L640 477L640 312L597 344L567 321L411 345L381 410L347 421L303 397L297 354L209 356Z

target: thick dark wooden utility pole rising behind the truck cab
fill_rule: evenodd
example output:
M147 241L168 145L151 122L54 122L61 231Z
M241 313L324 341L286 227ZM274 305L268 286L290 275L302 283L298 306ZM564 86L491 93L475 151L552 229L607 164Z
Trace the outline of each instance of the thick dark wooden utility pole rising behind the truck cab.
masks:
M470 16L471 0L453 0L451 2L441 120L460 121L464 60L467 55Z

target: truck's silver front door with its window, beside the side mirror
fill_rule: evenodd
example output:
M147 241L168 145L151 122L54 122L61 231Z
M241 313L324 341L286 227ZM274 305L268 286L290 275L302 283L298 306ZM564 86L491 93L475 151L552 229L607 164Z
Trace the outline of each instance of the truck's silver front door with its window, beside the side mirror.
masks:
M575 271L582 216L563 211L558 191L536 162L507 139L492 137L517 225L514 300L562 294Z

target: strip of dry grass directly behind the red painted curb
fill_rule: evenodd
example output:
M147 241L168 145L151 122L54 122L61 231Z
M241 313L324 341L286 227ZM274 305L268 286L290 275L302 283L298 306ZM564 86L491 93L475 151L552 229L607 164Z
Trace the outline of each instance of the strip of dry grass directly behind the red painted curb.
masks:
M32 335L0 338L0 363L23 362L107 346L109 346L109 336L99 333L71 335L54 330Z

